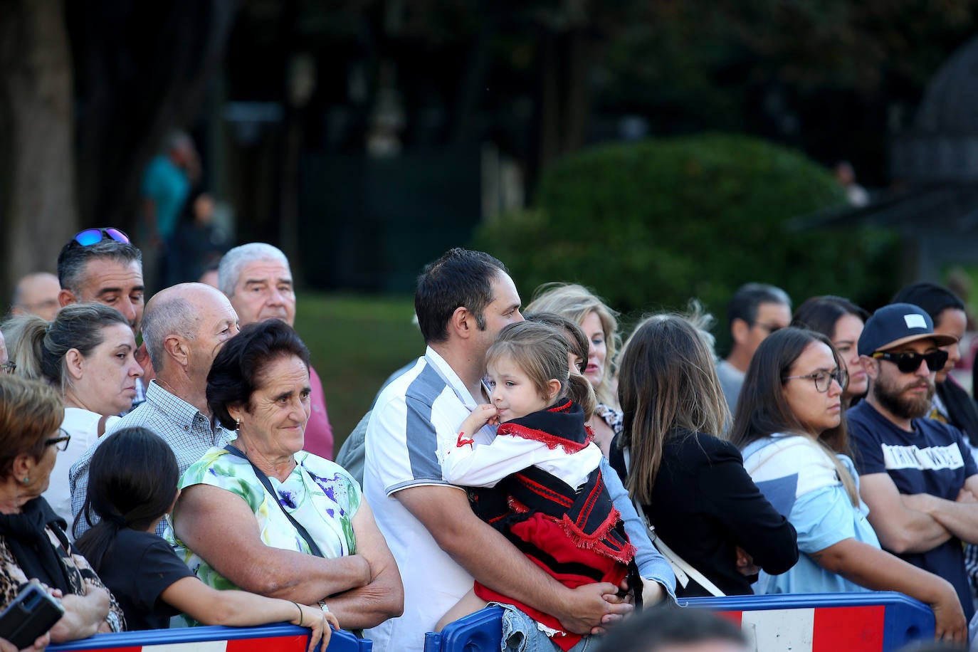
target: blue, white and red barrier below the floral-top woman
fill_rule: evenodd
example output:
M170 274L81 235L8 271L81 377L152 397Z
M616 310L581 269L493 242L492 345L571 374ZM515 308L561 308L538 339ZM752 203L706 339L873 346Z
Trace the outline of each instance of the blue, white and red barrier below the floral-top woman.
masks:
M100 633L70 643L51 645L49 652L153 652L156 646L183 643L195 652L305 652L309 630L297 625L253 628L199 627L172 630ZM193 645L193 647L191 647ZM371 652L374 643L349 631L333 631L330 644L317 652ZM173 648L169 648L172 650Z

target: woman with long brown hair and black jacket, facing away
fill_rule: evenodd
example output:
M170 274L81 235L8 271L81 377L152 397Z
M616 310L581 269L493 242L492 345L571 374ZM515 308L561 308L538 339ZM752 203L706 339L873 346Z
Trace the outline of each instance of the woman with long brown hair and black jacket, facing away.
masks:
M706 335L678 315L648 318L618 372L624 428L611 465L662 541L728 595L752 593L757 567L791 568L794 527L754 485L736 447L713 434L730 414ZM677 596L709 594L695 580L676 585Z

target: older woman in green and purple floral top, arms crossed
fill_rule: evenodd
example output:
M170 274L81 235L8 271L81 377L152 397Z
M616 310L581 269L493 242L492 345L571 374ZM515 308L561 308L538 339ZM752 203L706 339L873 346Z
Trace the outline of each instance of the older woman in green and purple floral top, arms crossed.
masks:
M400 615L400 575L356 481L302 451L309 391L309 352L286 324L244 326L224 346L207 403L238 438L181 478L177 552L211 587L319 603L344 629L374 627Z

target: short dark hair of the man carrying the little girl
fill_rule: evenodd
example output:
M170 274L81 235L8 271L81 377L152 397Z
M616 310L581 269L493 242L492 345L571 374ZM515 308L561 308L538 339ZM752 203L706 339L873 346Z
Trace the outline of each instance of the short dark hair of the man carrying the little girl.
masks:
M493 301L492 282L506 265L481 251L456 247L430 263L418 277L415 314L425 343L448 339L448 322L460 306L485 329L485 309Z

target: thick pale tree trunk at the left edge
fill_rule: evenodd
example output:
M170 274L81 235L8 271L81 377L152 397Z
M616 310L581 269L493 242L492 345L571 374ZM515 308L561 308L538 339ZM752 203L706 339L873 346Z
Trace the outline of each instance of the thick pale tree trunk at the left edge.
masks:
M0 178L6 262L0 293L54 271L77 228L72 71L61 0L0 0ZM9 296L3 296L7 305ZM5 312L5 311L4 311Z

